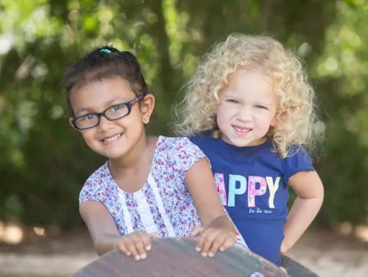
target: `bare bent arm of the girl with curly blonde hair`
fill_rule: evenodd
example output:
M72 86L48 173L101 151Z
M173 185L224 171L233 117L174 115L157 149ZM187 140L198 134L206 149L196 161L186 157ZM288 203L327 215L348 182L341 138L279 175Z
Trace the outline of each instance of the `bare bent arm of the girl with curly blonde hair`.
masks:
M317 215L323 201L323 185L315 171L299 172L289 178L288 185L296 199L287 215L281 253L290 249Z

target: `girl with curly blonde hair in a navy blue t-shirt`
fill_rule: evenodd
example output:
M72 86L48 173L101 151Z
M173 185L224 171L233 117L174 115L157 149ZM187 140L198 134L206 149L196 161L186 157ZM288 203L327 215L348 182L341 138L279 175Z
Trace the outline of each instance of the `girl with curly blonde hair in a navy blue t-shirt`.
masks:
M176 133L211 161L250 249L279 265L323 201L310 158L322 123L301 62L271 37L231 34L204 56L175 111ZM297 194L290 211L289 186Z

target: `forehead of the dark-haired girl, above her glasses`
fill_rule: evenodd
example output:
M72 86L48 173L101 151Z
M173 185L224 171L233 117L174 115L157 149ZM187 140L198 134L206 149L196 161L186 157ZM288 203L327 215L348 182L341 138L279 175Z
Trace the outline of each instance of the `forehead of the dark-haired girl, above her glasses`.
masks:
M121 78L93 81L70 93L75 112L79 109L101 109L114 101L128 101L135 96L127 81Z

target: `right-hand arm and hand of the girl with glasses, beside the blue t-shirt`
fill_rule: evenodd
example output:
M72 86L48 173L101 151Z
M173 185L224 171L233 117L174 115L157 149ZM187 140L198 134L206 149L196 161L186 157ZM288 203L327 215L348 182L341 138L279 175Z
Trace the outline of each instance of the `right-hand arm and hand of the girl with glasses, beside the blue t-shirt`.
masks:
M236 238L234 224L221 204L212 171L205 158L199 159L190 167L184 182L203 226L192 233L193 236L199 234L197 251L202 250L203 256L209 252L208 255L212 257L218 249L224 251L234 243Z

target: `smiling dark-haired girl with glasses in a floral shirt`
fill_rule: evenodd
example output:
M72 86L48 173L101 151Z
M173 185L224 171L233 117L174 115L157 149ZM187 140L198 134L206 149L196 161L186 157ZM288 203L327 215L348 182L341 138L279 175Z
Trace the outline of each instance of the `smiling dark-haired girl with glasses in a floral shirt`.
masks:
M244 240L227 217L204 154L187 138L147 136L155 106L130 52L103 47L65 76L71 125L108 158L80 192L80 213L96 252L118 248L145 259L151 238L197 237L212 257Z

